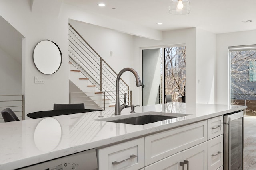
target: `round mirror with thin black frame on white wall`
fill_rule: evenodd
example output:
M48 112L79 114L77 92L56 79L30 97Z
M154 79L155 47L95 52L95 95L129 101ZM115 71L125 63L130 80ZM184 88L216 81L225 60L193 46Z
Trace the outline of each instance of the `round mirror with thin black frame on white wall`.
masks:
M62 62L62 54L56 43L49 40L40 41L33 54L36 68L44 74L58 71Z

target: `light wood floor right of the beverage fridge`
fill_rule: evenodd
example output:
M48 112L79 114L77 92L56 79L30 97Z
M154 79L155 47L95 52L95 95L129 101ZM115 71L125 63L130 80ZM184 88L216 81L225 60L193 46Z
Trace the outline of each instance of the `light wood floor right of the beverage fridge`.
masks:
M256 170L256 117L244 117L244 170Z

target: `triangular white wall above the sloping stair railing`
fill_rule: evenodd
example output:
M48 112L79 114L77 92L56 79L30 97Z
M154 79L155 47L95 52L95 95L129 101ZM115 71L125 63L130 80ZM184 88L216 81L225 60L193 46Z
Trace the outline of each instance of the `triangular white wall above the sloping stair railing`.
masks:
M125 67L133 67L133 35L80 21L69 22L116 73ZM113 52L112 56L110 51ZM132 73L124 73L121 78L128 84L135 83L135 79L131 81L129 75Z

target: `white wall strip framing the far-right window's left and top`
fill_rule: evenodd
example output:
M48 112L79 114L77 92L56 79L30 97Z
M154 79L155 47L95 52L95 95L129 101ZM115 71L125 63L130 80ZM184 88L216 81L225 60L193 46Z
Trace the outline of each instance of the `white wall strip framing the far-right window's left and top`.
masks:
M217 35L217 104L230 104L228 47L256 44L256 30Z

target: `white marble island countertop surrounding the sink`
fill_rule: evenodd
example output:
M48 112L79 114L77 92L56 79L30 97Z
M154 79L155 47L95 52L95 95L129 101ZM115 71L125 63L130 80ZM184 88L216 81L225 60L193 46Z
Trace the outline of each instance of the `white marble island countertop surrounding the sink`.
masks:
M169 103L136 107L136 113L125 108L121 115L114 115L114 108L105 111L77 113L0 123L0 169L13 170L84 150L104 147L112 143L156 133L177 126L231 113L246 106ZM149 123L130 125L98 121L120 119L136 114L156 111L186 116Z

